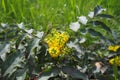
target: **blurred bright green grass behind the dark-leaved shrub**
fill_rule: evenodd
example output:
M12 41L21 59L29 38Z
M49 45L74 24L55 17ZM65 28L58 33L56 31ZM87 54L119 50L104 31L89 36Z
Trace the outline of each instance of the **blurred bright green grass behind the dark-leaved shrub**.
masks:
M93 11L96 5L107 8L111 15L120 16L119 0L0 0L0 23L24 22L38 30L68 26L77 16Z

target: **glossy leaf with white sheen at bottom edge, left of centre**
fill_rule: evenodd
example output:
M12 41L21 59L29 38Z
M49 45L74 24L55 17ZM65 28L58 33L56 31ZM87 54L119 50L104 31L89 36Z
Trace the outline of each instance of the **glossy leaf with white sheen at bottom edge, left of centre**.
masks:
M51 77L55 77L59 74L59 70L57 68L46 69L38 78L38 80L48 80Z

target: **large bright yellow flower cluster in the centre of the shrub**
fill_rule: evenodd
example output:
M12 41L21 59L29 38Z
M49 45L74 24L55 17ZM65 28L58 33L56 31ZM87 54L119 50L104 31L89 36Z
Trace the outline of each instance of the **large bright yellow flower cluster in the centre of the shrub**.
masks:
M48 52L51 57L58 57L62 54L65 43L68 41L69 35L66 32L58 32L53 29L50 34L45 38L45 42L48 44Z

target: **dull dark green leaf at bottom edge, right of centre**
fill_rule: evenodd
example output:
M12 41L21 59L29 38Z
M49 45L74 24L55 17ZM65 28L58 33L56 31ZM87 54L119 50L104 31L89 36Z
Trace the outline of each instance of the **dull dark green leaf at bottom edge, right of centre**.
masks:
M65 66L62 68L62 71L68 75L70 75L74 79L83 79L83 80L88 80L88 77L86 74L80 72L79 70Z

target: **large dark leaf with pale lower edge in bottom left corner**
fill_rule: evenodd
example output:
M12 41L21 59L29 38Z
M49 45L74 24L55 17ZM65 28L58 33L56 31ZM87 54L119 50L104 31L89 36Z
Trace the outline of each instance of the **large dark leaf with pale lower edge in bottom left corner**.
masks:
M11 53L5 62L2 64L2 75L6 76L7 74L12 74L15 70L15 67L19 66L22 62L22 55L20 51L16 53Z

